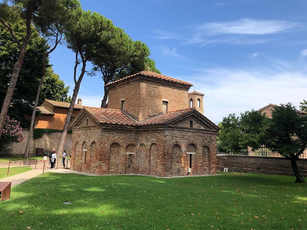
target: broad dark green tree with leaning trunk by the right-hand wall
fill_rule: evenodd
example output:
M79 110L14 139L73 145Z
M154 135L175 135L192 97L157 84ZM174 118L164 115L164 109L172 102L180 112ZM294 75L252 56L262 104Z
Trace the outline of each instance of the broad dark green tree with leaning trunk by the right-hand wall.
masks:
M254 110L240 117L229 114L223 118L218 136L226 152L238 152L248 146L257 150L265 145L291 161L295 182L305 182L296 161L307 147L307 116L299 115L291 103L275 106L272 118Z

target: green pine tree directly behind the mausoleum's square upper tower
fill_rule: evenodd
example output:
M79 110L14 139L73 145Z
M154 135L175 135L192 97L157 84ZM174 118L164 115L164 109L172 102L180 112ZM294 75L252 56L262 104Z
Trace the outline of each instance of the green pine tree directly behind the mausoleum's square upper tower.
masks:
M97 56L92 60L94 71L99 71L104 84L131 75L150 67L152 71L160 73L155 62L150 59L149 48L141 41L132 41L124 33L124 30L113 26L111 28L111 39L99 47ZM105 108L109 90L104 86L103 100L101 107Z

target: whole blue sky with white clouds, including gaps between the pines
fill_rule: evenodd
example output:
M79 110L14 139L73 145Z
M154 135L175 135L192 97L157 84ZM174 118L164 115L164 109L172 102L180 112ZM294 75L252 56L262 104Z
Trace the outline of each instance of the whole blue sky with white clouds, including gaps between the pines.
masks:
M307 99L307 1L80 2L145 42L162 74L204 93L204 115L213 122ZM61 45L50 56L72 95L74 54ZM85 75L78 97L100 107L102 79Z

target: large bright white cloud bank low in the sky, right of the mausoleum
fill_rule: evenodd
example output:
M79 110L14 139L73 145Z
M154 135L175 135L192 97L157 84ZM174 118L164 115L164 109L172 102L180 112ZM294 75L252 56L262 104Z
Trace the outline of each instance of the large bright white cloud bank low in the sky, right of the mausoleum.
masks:
M239 115L269 103L293 102L298 106L307 88L307 72L274 67L203 69L200 74L180 79L193 83L197 91L205 94L204 114L214 122L229 113Z

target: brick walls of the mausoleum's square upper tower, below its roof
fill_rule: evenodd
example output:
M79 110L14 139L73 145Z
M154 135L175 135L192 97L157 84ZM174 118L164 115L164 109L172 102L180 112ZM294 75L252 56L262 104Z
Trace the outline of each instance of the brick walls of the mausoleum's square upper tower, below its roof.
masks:
M179 87L175 82L155 82L146 79L129 79L125 84L115 83L109 87L109 109L121 109L125 99L124 111L138 121L162 113L162 99L168 100L168 111L189 107L188 88Z

